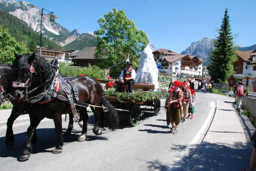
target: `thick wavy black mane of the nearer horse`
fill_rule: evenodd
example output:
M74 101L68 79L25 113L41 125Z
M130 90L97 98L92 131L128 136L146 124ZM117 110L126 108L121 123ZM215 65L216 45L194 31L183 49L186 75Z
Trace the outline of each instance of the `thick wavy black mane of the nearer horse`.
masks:
M32 54L30 53L26 53L24 55L21 55L19 59L15 59L12 65L14 71L14 78L17 78L18 74L22 76L27 75L30 72L30 65L28 65L28 59L31 55ZM32 62L32 65L36 71L36 73L33 73L32 79L32 81L34 82L33 84L35 85L32 86L38 86L51 77L52 67L50 62L48 62L46 59L36 55L36 58Z

